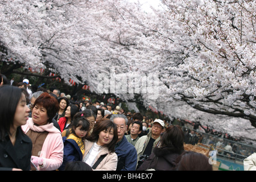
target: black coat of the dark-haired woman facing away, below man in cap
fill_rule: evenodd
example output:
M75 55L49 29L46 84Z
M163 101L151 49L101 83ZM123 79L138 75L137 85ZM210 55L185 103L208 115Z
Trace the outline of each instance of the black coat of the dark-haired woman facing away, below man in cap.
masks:
M152 154L142 163L138 171L155 169L156 171L173 171L176 167L176 159L184 150L170 147L156 147Z

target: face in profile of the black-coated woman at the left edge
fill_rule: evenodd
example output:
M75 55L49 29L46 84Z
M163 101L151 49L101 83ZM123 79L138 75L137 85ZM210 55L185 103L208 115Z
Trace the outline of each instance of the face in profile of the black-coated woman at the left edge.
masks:
M21 125L25 125L28 119L28 114L30 109L27 106L26 97L22 93L22 96L19 99L18 105L16 107L16 111L14 114L14 122L13 125L15 127L19 127Z

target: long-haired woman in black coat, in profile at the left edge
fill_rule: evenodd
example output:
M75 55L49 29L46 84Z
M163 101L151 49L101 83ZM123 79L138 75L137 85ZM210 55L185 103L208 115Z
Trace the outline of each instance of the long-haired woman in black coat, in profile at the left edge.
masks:
M32 142L20 128L30 109L24 92L16 86L0 86L0 170L30 170Z

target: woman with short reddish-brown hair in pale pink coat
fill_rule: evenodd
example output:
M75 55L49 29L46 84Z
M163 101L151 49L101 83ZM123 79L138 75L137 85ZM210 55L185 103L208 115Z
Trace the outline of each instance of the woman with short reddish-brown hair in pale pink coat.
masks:
M22 130L32 140L32 163L40 171L52 171L63 162L63 140L61 133L53 126L52 118L59 109L56 98L42 93L35 101L31 118Z

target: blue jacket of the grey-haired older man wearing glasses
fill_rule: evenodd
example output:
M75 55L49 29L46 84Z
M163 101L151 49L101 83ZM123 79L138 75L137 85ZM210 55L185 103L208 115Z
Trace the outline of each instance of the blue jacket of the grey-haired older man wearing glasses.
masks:
M115 154L118 156L117 171L135 171L137 166L137 150L126 137L115 144Z

